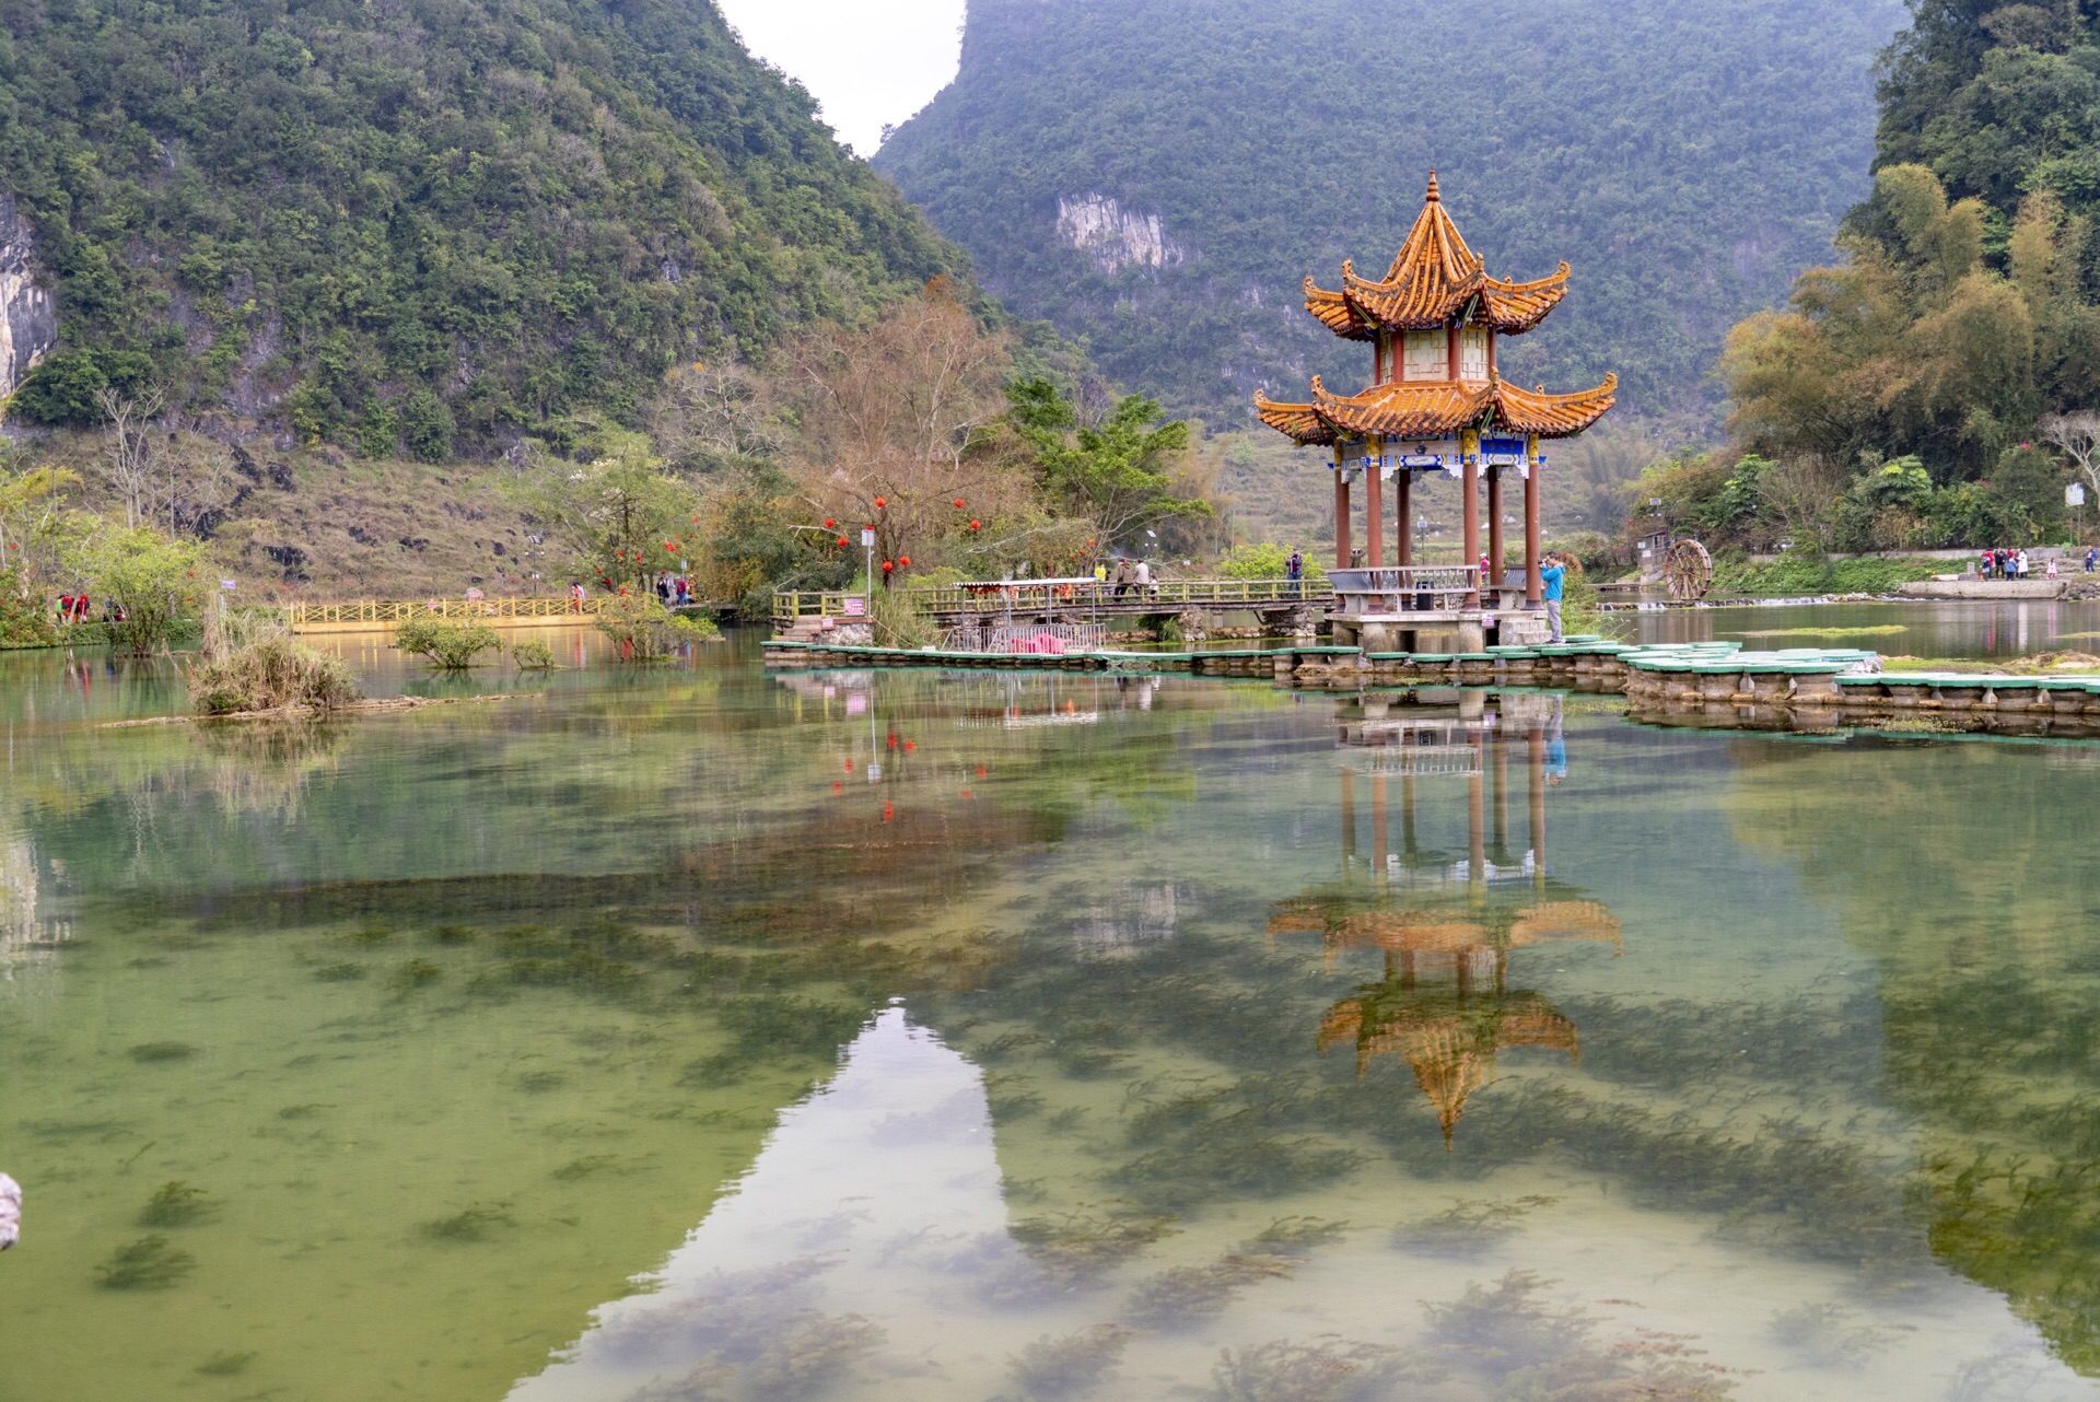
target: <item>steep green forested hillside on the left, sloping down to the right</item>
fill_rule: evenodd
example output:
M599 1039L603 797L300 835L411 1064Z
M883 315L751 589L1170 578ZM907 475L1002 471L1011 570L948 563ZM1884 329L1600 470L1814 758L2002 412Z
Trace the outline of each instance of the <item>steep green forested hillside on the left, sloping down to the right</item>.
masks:
M4 0L15 397L445 458L956 271L708 0Z

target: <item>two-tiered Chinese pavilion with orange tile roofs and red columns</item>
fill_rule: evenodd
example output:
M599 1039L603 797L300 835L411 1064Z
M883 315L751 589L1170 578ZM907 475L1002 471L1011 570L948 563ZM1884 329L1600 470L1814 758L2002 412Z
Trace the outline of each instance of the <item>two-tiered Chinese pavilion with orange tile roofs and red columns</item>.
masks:
M1428 197L1382 281L1357 277L1342 264L1342 288L1329 292L1304 281L1306 311L1344 340L1371 346L1371 384L1357 395L1329 395L1312 378L1310 403L1277 403L1256 395L1264 424L1300 445L1334 449L1336 567L1350 569L1350 485L1365 483L1365 562L1376 579L1336 579L1338 621L1354 613L1361 623L1407 623L1401 613L1428 607L1426 575L1411 567L1409 495L1415 472L1445 472L1464 483L1464 560L1468 571L1436 579L1438 594L1462 594L1451 617L1480 615L1480 588L1491 604L1502 586L1502 483L1504 472L1525 481L1525 592L1527 609L1539 607L1539 479L1546 455L1539 443L1571 439L1596 424L1615 403L1617 376L1594 390L1548 395L1525 390L1497 374L1495 342L1522 336L1546 321L1567 294L1569 264L1552 277L1514 283L1489 277L1480 256L1460 237L1445 212L1430 172ZM1487 474L1489 579L1476 577L1480 558L1478 483ZM1380 483L1394 483L1396 562L1384 567L1384 504ZM1441 571L1453 573L1453 571ZM1512 600L1514 602L1514 600ZM1424 619L1426 621L1426 619ZM1478 625L1478 623L1476 623ZM1367 640L1367 638L1365 638ZM1504 638L1508 640L1508 638ZM1369 640L1367 640L1369 642Z

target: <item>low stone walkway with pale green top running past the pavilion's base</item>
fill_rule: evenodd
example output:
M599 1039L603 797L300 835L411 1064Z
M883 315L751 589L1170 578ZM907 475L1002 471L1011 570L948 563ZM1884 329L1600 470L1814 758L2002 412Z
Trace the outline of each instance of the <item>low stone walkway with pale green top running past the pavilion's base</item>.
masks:
M773 667L970 667L1012 672L1186 672L1281 686L1541 686L1623 695L1659 724L1806 728L1896 724L1928 730L2100 735L2100 676L1884 672L1861 649L1747 651L1735 642L1630 644L1569 638L1480 653L1367 653L1283 644L1203 653L945 653L766 642Z

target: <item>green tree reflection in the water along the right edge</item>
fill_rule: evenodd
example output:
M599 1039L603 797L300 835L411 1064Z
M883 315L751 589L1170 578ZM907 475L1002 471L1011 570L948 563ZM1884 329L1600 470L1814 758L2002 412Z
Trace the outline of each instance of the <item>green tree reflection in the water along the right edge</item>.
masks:
M1880 970L1880 1089L1922 1125L1932 1251L2100 1371L2094 751L1737 745L1741 842L1785 852Z

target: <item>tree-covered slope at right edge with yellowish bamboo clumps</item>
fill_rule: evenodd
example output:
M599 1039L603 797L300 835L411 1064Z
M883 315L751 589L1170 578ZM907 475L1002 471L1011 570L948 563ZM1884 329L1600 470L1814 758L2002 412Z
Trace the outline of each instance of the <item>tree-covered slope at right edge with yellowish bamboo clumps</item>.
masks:
M1640 495L1749 544L2073 539L2100 491L2100 21L2073 0L1917 6L1884 63L1873 193L1842 258L1728 338L1739 449Z

